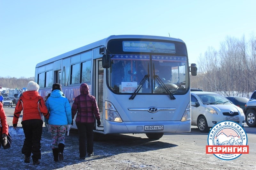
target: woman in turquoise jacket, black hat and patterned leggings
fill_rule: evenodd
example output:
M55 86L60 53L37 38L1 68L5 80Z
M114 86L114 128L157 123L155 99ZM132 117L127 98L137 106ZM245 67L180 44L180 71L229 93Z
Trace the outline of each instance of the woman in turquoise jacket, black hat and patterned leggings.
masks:
M72 122L71 107L61 91L61 85L52 85L52 92L46 97L45 105L50 112L48 129L52 135L52 153L54 161L63 160L65 134Z

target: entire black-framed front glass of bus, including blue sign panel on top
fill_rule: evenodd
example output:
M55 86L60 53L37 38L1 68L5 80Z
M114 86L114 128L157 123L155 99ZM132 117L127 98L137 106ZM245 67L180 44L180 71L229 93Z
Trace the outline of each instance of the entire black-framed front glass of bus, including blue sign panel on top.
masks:
M108 86L117 94L185 94L189 88L184 43L112 40L108 43L108 55Z

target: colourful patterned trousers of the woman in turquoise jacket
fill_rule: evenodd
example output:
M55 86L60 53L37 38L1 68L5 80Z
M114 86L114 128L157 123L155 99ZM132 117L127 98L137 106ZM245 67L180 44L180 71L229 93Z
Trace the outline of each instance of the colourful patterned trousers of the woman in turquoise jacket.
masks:
M58 148L58 144L65 144L67 125L50 125L52 135L52 149Z

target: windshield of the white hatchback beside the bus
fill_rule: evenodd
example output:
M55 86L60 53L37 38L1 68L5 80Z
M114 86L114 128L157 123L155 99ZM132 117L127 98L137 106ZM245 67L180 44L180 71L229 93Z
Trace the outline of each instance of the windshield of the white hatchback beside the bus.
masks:
M230 104L230 101L219 94L197 94L204 105Z

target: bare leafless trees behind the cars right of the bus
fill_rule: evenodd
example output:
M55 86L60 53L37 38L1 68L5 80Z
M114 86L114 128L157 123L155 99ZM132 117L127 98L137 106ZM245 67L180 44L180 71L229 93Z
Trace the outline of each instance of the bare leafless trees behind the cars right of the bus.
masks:
M191 77L191 87L218 92L224 96L246 96L256 90L256 38L252 33L247 42L227 36L217 52L209 47L200 54L196 77Z

